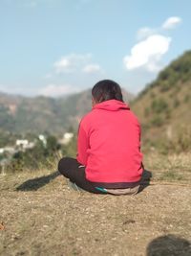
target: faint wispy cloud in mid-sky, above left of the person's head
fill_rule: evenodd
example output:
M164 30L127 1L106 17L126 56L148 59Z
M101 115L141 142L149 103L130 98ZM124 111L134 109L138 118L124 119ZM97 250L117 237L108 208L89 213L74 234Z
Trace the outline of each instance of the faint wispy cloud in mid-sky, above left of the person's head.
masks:
M55 68L55 73L65 73L65 72L74 72L77 68L80 68L88 61L90 61L92 55L68 55L62 57L60 60L56 61L53 66Z

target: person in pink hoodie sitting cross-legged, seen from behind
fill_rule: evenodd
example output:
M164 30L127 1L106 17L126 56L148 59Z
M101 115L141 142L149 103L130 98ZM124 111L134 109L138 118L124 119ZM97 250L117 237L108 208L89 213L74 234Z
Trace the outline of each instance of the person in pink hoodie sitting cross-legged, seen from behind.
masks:
M58 171L92 193L137 194L143 172L137 117L115 81L96 83L92 105L79 125L77 158L62 158Z

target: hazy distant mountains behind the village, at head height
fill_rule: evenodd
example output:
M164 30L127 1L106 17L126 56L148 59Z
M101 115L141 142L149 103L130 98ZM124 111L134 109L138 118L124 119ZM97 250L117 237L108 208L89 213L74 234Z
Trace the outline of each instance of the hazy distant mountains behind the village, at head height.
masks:
M124 100L133 95L123 90ZM81 117L91 110L91 90L64 98L8 95L0 93L0 131L13 133L63 133L77 128Z

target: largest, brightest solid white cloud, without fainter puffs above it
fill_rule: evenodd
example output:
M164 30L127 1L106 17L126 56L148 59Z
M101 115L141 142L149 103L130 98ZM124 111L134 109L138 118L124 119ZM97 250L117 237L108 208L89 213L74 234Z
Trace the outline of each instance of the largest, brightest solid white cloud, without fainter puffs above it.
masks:
M171 38L164 35L150 35L138 42L132 49L131 55L123 61L128 70L144 67L150 72L157 72L161 68L159 60L168 52Z

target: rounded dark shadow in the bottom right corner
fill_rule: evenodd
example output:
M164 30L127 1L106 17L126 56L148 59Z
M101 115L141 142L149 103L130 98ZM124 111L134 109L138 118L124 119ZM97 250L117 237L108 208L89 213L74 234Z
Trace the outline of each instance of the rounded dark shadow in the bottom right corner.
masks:
M146 256L190 256L191 243L172 234L158 237L146 248Z

